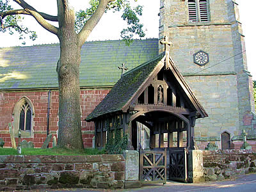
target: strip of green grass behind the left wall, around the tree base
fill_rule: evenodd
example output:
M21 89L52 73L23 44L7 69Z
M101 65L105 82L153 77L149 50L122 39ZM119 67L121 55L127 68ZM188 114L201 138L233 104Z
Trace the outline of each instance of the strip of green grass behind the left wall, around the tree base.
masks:
M22 148L21 155L41 155L41 156L85 156L104 154L104 150L97 148L85 148L84 150L70 150L66 148ZM0 156L19 155L15 148L0 148Z

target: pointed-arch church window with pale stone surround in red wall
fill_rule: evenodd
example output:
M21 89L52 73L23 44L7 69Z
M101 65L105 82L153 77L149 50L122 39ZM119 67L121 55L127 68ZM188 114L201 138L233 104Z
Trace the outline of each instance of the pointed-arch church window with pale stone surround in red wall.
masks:
M34 108L31 100L22 97L13 108L14 116L14 133L18 136L19 129L22 138L33 137L33 115Z

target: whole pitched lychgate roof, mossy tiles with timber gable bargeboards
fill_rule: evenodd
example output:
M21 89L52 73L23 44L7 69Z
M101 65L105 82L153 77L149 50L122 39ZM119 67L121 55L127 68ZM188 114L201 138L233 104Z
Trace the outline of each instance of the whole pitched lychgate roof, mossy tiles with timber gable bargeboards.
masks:
M165 54L160 54L153 60L145 62L125 73L102 102L100 102L93 112L87 116L86 121L92 121L93 119L99 118L99 116L102 115L107 115L108 113L115 113L118 111L126 112L132 99L134 99L140 88L143 88L143 85L147 82L150 76L155 74L154 72L156 72L156 70L159 71L163 68L167 56ZM196 99L191 88L189 88L188 84L180 74L178 68L175 67L172 58L168 56L167 59L169 60L168 63L170 63L168 64L170 71L174 74L177 82L179 82L180 88L184 91L184 94L187 95L195 110L200 114L200 117L204 118L205 116L208 116L205 109Z

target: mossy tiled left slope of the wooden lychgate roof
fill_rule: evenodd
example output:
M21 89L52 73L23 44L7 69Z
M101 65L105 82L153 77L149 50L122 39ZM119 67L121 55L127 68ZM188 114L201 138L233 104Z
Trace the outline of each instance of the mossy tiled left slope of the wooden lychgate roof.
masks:
M164 54L161 54L153 60L126 72L102 102L87 116L86 121L90 121L101 115L106 115L107 113L121 111L163 58Z

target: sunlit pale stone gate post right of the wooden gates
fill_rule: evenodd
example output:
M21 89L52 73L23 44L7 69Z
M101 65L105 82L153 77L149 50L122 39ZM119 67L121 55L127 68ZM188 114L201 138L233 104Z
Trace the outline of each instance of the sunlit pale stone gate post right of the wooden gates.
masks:
M188 182L204 182L202 150L188 150Z

